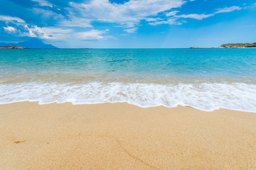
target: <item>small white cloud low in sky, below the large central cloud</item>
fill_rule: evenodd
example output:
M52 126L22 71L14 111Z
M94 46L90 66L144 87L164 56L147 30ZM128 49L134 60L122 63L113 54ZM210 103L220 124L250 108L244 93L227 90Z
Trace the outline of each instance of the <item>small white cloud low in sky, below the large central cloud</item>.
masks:
M75 38L80 40L101 40L104 37L102 36L103 33L106 33L107 30L89 30L85 32L80 32L75 34Z

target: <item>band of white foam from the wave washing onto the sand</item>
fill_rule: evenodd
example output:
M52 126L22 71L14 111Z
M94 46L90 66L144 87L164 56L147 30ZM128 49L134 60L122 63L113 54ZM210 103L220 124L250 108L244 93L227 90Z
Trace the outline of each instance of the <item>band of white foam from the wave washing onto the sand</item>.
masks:
M21 101L91 104L127 102L142 108L191 106L203 111L228 108L256 113L255 84L124 84L98 82L0 84L0 104Z

